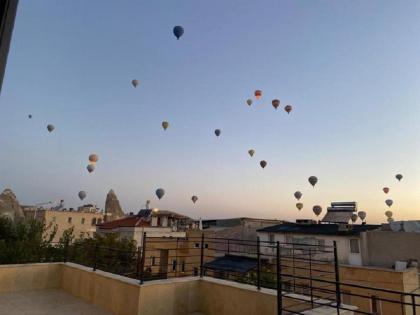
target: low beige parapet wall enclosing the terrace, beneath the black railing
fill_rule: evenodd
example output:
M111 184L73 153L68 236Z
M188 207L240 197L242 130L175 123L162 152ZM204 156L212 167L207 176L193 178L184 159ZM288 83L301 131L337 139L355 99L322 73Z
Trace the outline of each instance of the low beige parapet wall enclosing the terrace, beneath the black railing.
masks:
M228 280L182 277L140 285L136 279L93 271L74 263L0 266L0 293L49 289L62 290L115 315L277 314L275 290L258 290L254 286ZM336 313L334 308L323 306L331 301L317 299L315 302L320 307L312 309L308 296L283 294L283 307L288 310L304 314ZM342 310L341 313L353 312Z

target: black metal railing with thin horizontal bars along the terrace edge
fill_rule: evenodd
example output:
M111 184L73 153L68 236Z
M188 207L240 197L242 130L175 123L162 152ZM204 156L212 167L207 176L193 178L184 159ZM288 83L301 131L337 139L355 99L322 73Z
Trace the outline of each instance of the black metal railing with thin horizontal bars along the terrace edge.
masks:
M258 290L273 289L277 291L278 314L302 314L321 306L334 308L337 314L348 310L355 314L415 315L420 311L417 293L342 281L335 242L332 246L320 246L216 238L204 233L186 238L150 238L144 234L137 250L100 247L95 243L70 244L56 250L54 261L74 262L94 271L138 279L140 284L156 279L208 276L253 285ZM39 261L52 259L44 257ZM291 300L295 302L292 306Z

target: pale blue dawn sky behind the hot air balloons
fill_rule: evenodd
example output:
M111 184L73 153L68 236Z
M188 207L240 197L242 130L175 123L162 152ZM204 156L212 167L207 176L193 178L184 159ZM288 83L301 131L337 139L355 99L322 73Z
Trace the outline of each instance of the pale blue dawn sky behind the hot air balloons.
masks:
M309 218L314 204L355 200L368 222L384 221L389 197L396 219L419 219L419 41L415 0L21 0L0 188L68 207L79 190L103 207L113 188L127 212L152 199L197 218Z

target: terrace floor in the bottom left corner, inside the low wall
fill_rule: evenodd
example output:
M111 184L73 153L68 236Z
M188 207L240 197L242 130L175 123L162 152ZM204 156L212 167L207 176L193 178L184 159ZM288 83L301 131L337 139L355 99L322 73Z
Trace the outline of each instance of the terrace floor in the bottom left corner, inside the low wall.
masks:
M0 294L0 314L111 315L60 289L2 293Z

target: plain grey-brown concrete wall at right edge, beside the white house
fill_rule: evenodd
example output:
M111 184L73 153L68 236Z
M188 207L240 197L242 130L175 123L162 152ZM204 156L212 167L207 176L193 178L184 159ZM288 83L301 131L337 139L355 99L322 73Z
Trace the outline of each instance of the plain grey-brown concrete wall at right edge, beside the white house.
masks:
M366 244L364 256L369 265L389 268L397 260L409 259L420 263L420 233L368 231L361 233L361 237Z

